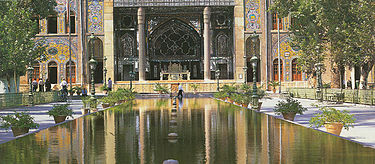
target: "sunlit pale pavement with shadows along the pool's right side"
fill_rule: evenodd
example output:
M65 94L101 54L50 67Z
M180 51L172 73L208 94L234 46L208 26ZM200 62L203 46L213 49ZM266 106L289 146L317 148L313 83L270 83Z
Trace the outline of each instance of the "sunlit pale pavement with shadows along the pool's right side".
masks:
M273 108L277 102L281 100L278 97L272 97L271 100L261 100L263 101L261 112L264 112L268 115L275 116L277 118L282 118L282 116L277 116L273 112ZM294 123L309 127L309 120L314 116L315 113L318 113L319 110L316 107L312 107L312 103L318 103L317 100L309 99L297 99L301 102L302 106L307 107L303 115L296 115ZM358 142L366 147L375 148L375 106L371 105L362 105L362 104L335 104L335 103L318 103L319 106L330 106L338 110L347 110L349 113L354 114L354 117L357 119L354 124L354 128L350 128L349 131L342 129L341 137L345 139ZM324 127L320 127L319 130L326 131Z

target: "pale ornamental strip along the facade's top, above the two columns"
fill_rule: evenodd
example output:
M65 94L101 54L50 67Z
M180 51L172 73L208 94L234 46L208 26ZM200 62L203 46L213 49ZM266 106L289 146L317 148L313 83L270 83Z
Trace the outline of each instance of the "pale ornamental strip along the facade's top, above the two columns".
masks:
M234 6L234 0L114 0L113 6Z

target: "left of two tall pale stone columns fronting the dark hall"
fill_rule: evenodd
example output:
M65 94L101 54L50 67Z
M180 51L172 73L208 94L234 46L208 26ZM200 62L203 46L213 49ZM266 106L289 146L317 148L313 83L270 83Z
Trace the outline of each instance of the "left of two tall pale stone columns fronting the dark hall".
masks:
M139 39L139 81L145 81L146 79L146 42L145 42L145 11L142 7L138 8L138 39Z

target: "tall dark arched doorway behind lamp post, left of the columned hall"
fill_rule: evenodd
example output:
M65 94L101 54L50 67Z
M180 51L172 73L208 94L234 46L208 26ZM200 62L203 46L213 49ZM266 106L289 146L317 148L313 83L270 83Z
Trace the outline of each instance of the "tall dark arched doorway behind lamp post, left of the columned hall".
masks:
M90 48L89 48L89 55L88 55L87 61L90 61L92 51L94 51L94 59L98 62L98 64L96 65L96 69L94 71L95 83L103 83L103 66L104 66L103 42L99 38L96 37L94 40L89 41L89 45L90 45L89 46ZM88 66L88 69L90 69L89 66ZM88 71L89 71L89 76L91 76L91 73L90 73L91 70L88 70Z

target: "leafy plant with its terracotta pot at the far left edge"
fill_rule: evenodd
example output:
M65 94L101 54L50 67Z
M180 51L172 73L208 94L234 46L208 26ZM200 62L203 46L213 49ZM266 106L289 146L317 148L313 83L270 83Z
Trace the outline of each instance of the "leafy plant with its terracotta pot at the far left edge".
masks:
M28 133L31 128L39 128L34 117L26 112L15 111L14 114L0 116L0 119L0 128L8 130L10 127L14 137Z

